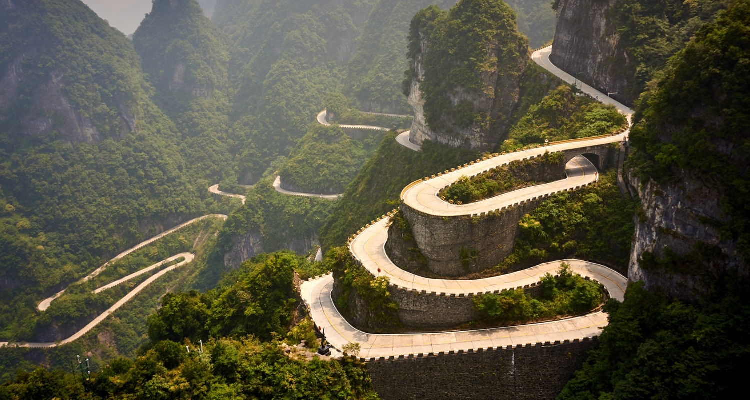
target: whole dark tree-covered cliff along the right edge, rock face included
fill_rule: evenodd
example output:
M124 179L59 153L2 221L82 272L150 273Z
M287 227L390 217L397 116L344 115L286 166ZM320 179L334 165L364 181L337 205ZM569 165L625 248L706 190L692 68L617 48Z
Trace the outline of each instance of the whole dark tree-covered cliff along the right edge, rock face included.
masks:
M750 278L750 7L706 24L644 95L631 131L643 212L629 277L697 299Z

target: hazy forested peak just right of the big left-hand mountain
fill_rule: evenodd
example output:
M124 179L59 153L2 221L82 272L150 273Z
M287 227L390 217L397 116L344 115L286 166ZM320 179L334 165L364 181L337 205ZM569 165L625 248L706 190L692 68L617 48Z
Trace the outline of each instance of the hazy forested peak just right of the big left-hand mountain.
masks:
M195 0L154 2L133 35L154 101L178 129L190 172L211 182L236 182L229 133L229 38Z

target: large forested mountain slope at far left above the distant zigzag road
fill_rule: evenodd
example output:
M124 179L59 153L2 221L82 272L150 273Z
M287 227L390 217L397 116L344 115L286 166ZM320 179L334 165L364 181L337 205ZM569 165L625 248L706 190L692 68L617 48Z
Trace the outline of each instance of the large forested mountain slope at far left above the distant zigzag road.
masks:
M210 200L133 45L83 3L2 2L0 48L0 326L28 338L44 294Z

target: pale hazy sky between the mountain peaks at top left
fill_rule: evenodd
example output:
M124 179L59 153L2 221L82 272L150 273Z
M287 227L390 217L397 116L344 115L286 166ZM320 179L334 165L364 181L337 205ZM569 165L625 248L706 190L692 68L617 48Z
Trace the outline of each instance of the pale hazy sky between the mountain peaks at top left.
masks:
M151 0L81 0L99 17L110 22L125 35L136 32L145 14L151 12ZM199 0L210 17L216 0Z

